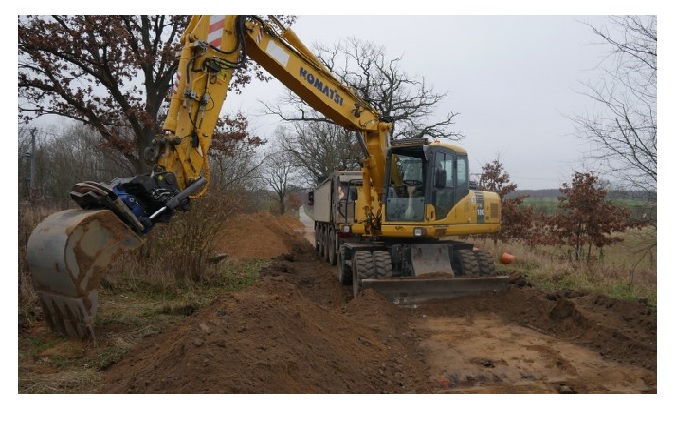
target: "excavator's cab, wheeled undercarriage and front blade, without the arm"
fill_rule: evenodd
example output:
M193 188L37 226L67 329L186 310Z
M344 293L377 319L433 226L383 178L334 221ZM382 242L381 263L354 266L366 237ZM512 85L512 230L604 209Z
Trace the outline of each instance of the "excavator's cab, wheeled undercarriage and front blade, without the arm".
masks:
M370 288L412 305L505 289L491 254L456 239L492 233L501 222L498 195L471 189L465 150L396 140L386 162L381 235L340 247L340 280L354 295Z

